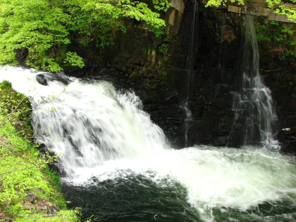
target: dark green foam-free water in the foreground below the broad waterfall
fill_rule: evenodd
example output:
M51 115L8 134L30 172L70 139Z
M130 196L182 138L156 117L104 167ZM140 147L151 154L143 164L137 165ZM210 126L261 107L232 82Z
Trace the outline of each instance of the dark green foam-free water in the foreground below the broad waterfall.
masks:
M69 207L82 207L83 219L94 215L97 221L200 221L179 183L161 187L139 175L86 187L63 184L63 192L72 202Z

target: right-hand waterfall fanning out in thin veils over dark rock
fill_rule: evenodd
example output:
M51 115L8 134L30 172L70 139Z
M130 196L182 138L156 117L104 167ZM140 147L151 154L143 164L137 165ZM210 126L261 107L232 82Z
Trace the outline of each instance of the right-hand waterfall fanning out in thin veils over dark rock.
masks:
M259 53L252 16L246 15L244 54L242 61L241 90L234 94L233 109L236 112L234 127L242 130L242 142L261 143L278 149L275 139L276 111L270 89L264 85L259 73Z

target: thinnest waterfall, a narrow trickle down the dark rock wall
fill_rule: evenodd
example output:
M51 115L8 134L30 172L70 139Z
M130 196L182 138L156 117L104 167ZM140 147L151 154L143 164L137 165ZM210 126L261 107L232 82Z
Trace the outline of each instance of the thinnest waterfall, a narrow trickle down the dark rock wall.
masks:
M193 69L194 69L194 40L195 40L195 33L197 29L196 20L197 20L197 12L198 12L198 2L194 0L194 7L193 7L193 17L192 17L192 26L191 26L191 37L190 37L190 45L189 45L189 53L187 57L187 65L186 65L186 74L187 74L187 84L186 84L186 101L184 103L184 110L185 110L185 135L184 135L184 146L189 146L188 142L188 130L189 130L189 123L192 122L192 112L189 108L189 96L191 95L190 92L190 81L192 80Z

